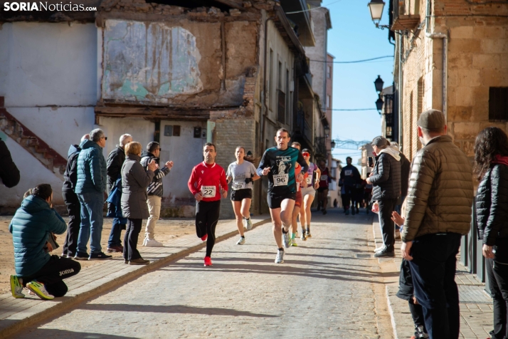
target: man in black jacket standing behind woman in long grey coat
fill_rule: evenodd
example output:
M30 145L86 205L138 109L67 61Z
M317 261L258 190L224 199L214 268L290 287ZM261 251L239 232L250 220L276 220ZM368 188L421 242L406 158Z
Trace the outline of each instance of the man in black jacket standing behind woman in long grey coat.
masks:
M115 187L117 179L122 176L122 165L125 162L125 145L132 142L132 136L129 134L120 137L120 145L115 147L115 150L110 152L107 156L107 192L111 192ZM116 215L116 207L114 204L107 205L109 214ZM107 241L108 252L123 252L122 246L122 229L125 229L125 220L123 218L113 218L113 225L111 227L110 239Z

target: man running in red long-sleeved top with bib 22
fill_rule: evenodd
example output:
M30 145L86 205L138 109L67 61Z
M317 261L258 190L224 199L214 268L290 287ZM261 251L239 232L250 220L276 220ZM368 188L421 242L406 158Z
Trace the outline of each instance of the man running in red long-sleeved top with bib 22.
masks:
M226 172L215 163L216 148L211 142L203 147L205 160L192 169L188 186L196 204L196 234L206 241L205 266L212 266L211 251L215 245L215 229L221 212L221 197L228 197Z

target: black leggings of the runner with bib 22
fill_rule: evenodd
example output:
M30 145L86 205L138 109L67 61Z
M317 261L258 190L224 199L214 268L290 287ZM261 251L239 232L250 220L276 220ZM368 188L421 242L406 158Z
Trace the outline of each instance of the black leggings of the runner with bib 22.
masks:
M215 245L215 228L220 212L221 200L216 202L198 202L196 204L196 234L199 238L208 234L208 239L206 239L206 256L211 256L213 245Z

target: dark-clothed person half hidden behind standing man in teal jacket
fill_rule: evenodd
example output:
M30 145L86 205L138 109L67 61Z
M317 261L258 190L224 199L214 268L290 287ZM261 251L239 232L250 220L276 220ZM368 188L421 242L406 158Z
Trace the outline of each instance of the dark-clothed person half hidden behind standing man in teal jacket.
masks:
M90 139L90 135L85 134L81 138L81 142L88 139ZM65 173L63 174L62 196L69 213L69 223L67 225L67 236L63 243L62 256L67 258L74 258L78 250L78 236L80 234L81 205L78 195L74 192L78 181L78 155L80 155L80 151L79 145L70 145L67 154L67 167L65 167Z

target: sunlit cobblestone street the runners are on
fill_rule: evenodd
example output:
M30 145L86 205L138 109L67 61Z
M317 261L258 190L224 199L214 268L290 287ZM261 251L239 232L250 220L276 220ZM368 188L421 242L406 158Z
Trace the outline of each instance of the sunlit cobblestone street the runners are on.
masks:
M18 338L391 338L371 216L314 215L284 264L265 224L216 244L211 268L199 251Z

